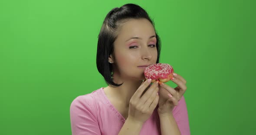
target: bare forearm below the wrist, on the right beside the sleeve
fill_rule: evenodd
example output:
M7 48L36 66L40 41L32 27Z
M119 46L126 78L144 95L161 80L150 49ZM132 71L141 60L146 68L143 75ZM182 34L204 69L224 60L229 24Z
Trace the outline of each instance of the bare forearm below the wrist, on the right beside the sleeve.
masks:
M159 113L159 119L160 119L162 135L181 135L179 127L172 113L170 114Z

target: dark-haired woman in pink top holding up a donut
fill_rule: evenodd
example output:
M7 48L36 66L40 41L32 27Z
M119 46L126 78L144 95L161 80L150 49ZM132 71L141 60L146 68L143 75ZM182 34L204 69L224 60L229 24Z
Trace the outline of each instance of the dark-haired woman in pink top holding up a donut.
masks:
M159 56L147 12L135 4L112 9L98 35L96 61L108 87L73 100L72 135L190 135L186 80L174 74L176 88L145 80L145 67Z

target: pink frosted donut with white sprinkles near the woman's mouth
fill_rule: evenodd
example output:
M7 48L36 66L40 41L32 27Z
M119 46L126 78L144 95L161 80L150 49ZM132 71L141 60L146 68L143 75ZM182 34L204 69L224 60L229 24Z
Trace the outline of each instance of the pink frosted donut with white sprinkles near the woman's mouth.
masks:
M145 78L151 78L152 83L154 83L156 80L165 83L171 80L173 73L174 69L172 66L164 63L152 64L146 67L144 70Z

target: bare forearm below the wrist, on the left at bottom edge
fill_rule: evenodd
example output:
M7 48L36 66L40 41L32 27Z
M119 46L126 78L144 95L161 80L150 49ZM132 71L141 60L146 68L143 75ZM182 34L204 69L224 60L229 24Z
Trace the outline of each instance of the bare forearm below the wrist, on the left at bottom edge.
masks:
M139 135L142 125L142 122L133 121L128 117L118 135Z

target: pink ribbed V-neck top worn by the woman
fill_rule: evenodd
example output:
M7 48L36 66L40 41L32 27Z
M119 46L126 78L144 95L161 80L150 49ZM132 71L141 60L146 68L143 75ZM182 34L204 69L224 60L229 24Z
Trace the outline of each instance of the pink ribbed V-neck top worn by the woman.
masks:
M72 135L118 135L125 118L110 103L104 88L76 97L70 105ZM157 108L144 122L140 135L161 135ZM184 96L174 107L173 115L181 135L190 135L187 105Z

